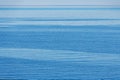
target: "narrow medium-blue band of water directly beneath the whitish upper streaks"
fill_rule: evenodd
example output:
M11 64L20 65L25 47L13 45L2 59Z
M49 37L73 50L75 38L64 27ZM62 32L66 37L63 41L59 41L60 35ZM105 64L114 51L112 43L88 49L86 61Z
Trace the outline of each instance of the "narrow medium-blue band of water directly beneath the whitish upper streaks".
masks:
M65 26L65 25L4 25L0 31L12 32L100 32L120 33L119 25L88 25L88 26Z

